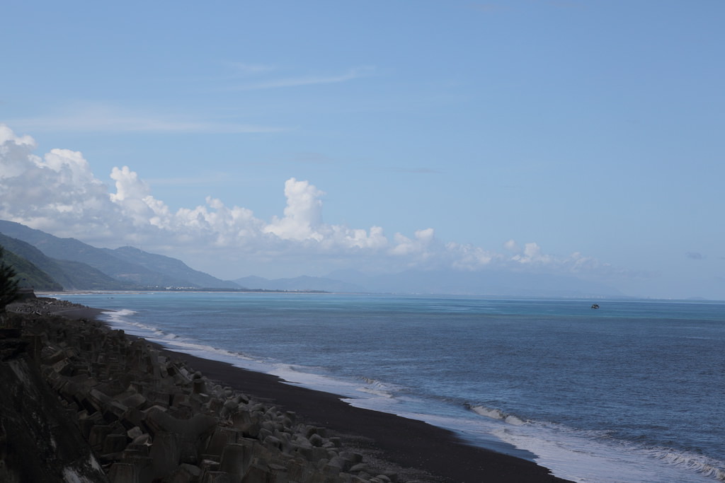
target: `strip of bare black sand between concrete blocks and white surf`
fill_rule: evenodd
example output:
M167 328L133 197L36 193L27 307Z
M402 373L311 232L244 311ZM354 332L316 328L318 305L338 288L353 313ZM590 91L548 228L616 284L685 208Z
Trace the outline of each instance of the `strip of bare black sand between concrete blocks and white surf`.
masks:
M99 319L99 308L65 308L54 314L69 319ZM126 335L130 340L141 339ZM432 424L351 406L341 396L307 389L283 381L280 377L242 369L222 361L170 350L143 339L164 356L181 359L204 377L244 392L254 400L270 403L285 411L294 411L308 424L326 427L346 446L375 459L380 466L393 466L403 481L416 482L552 482L564 483L534 461L473 446L455 432ZM409 479L405 479L409 478Z

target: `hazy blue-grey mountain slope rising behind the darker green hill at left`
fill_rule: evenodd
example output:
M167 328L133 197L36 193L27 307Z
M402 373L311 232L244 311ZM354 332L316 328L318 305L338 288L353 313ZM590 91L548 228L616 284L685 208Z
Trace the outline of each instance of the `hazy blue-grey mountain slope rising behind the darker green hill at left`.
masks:
M237 288L233 282L224 282L209 274L193 270L182 261L170 257L154 255L123 247L116 250L96 248L75 238L58 238L41 230L26 227L23 224L0 220L0 233L22 240L38 248L46 257L52 259L61 272L77 270L76 280L59 280L59 272L51 273L58 277L62 285L76 289L130 290L142 287L195 287L195 288ZM75 263L75 264L74 264ZM104 274L107 280L97 278L94 272L88 272L84 266ZM168 271L168 272L167 272ZM68 273L66 273L68 276ZM91 277L86 284L78 280ZM109 280L108 280L109 279ZM97 283L96 283L97 282ZM93 287L86 287L92 283Z

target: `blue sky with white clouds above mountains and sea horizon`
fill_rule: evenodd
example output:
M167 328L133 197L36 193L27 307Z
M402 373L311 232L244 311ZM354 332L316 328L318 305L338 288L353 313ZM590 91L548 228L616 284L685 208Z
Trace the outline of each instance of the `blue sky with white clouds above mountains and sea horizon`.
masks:
M223 279L725 299L725 2L4 1L0 219Z

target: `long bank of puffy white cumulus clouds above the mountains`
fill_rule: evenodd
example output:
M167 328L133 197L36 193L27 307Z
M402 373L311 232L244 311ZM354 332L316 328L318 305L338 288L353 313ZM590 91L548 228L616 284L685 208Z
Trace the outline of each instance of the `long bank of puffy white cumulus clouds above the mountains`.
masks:
M0 124L0 219L93 245L136 245L220 277L241 277L265 266L276 266L276 276L285 267L309 274L340 268L486 267L583 274L606 268L580 253L545 254L537 243L521 246L509 240L496 252L443 242L431 227L389 236L378 226L328 224L323 221L323 191L294 177L284 183L283 214L270 220L212 196L204 205L172 211L127 166L112 169L109 185L96 178L78 151L51 149L38 156L35 149L33 138Z

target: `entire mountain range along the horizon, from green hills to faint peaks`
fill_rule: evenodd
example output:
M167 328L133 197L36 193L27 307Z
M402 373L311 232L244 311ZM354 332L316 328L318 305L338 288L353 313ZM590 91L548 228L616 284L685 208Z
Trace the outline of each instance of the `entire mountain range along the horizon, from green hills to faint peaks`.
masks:
M328 277L220 280L178 259L138 248L96 248L23 224L0 220L0 245L25 285L36 290L319 290L340 293L419 293L547 297L622 296L618 290L576 277L487 270L407 270L364 274L338 270Z

